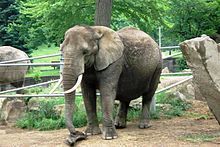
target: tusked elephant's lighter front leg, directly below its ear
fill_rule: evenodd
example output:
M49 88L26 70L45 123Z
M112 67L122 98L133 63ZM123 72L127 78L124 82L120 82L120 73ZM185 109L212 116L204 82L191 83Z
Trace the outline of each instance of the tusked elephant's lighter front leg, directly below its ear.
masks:
M122 59L119 59L117 62L109 65L105 70L97 73L103 113L103 139L114 139L118 137L113 122L113 108L121 72Z

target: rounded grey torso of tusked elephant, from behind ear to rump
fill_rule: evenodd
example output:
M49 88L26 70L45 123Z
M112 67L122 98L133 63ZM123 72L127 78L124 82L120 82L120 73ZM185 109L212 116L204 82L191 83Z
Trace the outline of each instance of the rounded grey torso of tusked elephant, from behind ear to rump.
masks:
M118 31L124 48L124 68L118 86L118 97L129 100L148 91L151 78L162 58L157 43L135 28Z

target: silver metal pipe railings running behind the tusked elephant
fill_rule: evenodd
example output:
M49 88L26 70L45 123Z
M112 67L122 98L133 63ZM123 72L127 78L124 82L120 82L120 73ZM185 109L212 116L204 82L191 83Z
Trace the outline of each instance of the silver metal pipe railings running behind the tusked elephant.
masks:
M179 48L179 46L160 47L161 50L164 50L164 49L172 50L172 49L176 49L176 48ZM171 58L171 57L174 57L174 56L177 56L177 55L180 55L180 54L182 54L182 53L181 52L180 53L175 53L173 55L169 55L169 56L163 57L163 59ZM20 61L49 58L49 57L54 57L54 56L61 56L60 63L18 63L18 64L15 63L15 62L20 62ZM6 67L6 66L55 66L55 65L60 66L60 72L62 72L63 56L62 56L61 53L0 62L0 67ZM162 76L164 76L164 75L167 76L167 75L177 75L177 74L178 75L189 75L189 74L191 74L191 72L164 73L164 74L161 74L161 75ZM184 82L186 82L186 81L188 81L190 79L192 79L192 76L189 76L186 79L184 79L184 80L182 80L180 82L177 82L175 84L172 84L172 85L170 85L168 87L165 87L165 88L163 88L161 90L157 90L156 94L160 93L160 92L163 92L163 91L166 91L166 90L168 90L170 88L173 88L175 86L178 86L178 85L180 85L180 84L182 84L182 83L184 83ZM2 92L0 92L0 98L5 98L5 97L11 97L11 98L13 98L13 97L17 97L17 98L18 97L20 97L20 98L21 97L63 97L64 94L37 94L37 95L18 95L18 94L15 94L15 95L3 95L5 93L15 92L15 91L18 91L18 90L38 87L38 86L42 86L42 85L47 85L47 84L54 83L54 82L58 82L58 80L53 80L53 81L38 83L38 84L30 85L30 86L24 86L24 87L20 87L20 88L15 88L15 89L11 89L11 90L2 91ZM82 94L81 93L76 93L76 95L81 96ZM98 95L99 95L99 93L98 93Z

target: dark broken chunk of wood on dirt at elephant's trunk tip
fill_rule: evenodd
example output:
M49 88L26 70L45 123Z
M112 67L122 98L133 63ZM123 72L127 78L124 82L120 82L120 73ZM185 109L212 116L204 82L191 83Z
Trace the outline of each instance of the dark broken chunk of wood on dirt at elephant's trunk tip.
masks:
M69 137L66 139L65 143L69 146L74 146L77 141L86 139L87 135L76 131L75 133L71 133Z

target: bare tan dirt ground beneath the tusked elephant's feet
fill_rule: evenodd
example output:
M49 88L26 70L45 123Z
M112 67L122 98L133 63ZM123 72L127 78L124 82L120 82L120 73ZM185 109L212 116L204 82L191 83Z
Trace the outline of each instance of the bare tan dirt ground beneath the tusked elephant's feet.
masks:
M207 105L193 101L190 114L210 114ZM199 115L199 116L200 116ZM90 136L76 144L77 147L150 147L150 146L220 146L220 135L212 141L191 142L184 139L192 134L219 134L220 127L213 116L201 119L195 116L152 120L152 127L138 129L137 122L128 123L127 128L117 130L119 137L102 140L101 135ZM79 128L83 131L85 128ZM65 147L66 129L55 131L28 131L9 126L0 126L0 147Z

